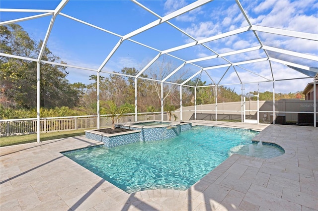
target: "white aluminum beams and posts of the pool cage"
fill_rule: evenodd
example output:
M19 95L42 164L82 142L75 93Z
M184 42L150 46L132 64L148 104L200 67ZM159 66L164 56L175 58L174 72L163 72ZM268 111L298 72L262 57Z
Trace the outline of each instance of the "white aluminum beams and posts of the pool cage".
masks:
M58 4L58 6L54 10L52 10L52 9L15 9L15 8L8 9L8 8L0 8L0 12L31 12L31 13L37 12L37 13L42 13L42 14L28 16L28 17L24 17L24 18L18 18L18 19L14 19L14 20L2 21L2 22L0 22L0 26L7 25L7 24L10 24L10 23L17 23L17 22L20 22L20 21L26 21L26 20L31 20L31 19L36 19L36 18L41 18L41 17L46 17L46 16L52 16L51 17L51 21L50 21L50 23L48 25L48 29L47 29L45 38L43 40L42 47L41 47L40 52L38 54L38 57L36 59L35 58L28 58L28 57L23 57L23 56L16 56L16 55L11 55L11 54L0 53L0 56L6 56L6 57L12 57L12 58L18 58L18 59L25 59L25 60L36 61L37 62L37 119L38 119L38 122L40 120L40 91L39 91L39 84L40 84L40 67L41 67L40 64L41 63L49 63L49 64L54 64L54 65L61 65L61 66L64 66L64 67L70 67L70 68L77 68L77 69L94 71L94 72L96 72L97 79L99 79L100 72L107 73L107 74L116 74L116 75L121 75L121 76L135 78L135 119L136 120L137 120L137 115L138 115L138 110L137 110L137 102L138 102L138 99L137 99L137 94L138 94L137 81L138 81L138 78L145 79L145 80L159 81L160 82L160 88L161 88L161 94L160 94L161 95L161 119L163 119L163 85L164 85L164 83L175 84L175 85L180 86L180 120L182 120L182 86L192 87L192 86L186 85L186 83L188 81L190 81L191 79L193 79L194 77L198 76L199 74L200 74L200 77L201 77L201 74L204 71L207 74L207 76L211 79L211 81L213 83L212 86L215 87L215 101L216 101L215 115L216 115L216 120L217 120L217 103L218 103L217 102L217 89L218 89L218 86L224 86L225 85L225 84L221 84L221 81L222 81L223 77L226 75L227 71L231 67L234 68L234 71L236 72L236 74L238 76L238 79L239 79L239 82L240 82L239 84L241 85L242 96L244 94L244 84L260 83L260 82L268 82L268 81L272 82L273 83L273 93L274 93L274 96L275 96L275 87L274 87L275 86L275 81L301 79L300 77L298 77L298 78L275 80L273 69L272 69L272 62L278 62L278 63L281 63L283 65L288 65L288 66L292 66L292 67L301 68L301 69L313 72L316 75L318 74L318 68L312 68L310 66L305 66L305 65L302 65L302 64L293 63L293 62L285 61L285 60L282 60L282 59L273 58L273 57L269 56L267 51L272 51L272 52L275 52L275 53L282 53L282 54L286 54L286 55L292 55L292 56L296 56L296 57L304 58L304 59L311 59L311 60L314 60L314 61L318 61L318 56L317 55L309 55L309 54L306 54L306 52L299 53L299 52L287 51L287 50L271 47L271 46L268 46L268 45L263 45L262 41L259 38L257 33L258 32L270 33L270 34L276 34L276 35L281 35L281 36L301 38L301 39L305 39L305 40L308 40L308 41L318 41L318 35L317 34L305 33L305 32L297 32L297 31L291 31L291 30L286 30L286 29L271 28L271 27L266 27L266 26L253 25L251 23L248 15L244 11L244 8L240 4L239 0L236 0L236 3L239 6L239 10L242 13L242 15L244 16L244 19L246 20L248 25L245 26L245 27L241 27L239 29L235 29L235 30L232 30L232 31L224 32L224 33L221 33L221 34L218 34L218 35L215 35L215 36L211 36L211 37L208 37L208 38L205 38L205 39L202 39L202 40L195 39L194 37L192 37L191 35L189 35L185 31L183 31L182 29L180 29L177 26L175 26L174 24L170 23L169 20L171 20L173 18L176 18L176 17L178 17L178 16L180 16L180 15L186 13L186 12L189 12L189 11L195 9L195 8L198 8L198 7L201 7L201 6L205 5L205 4L208 4L212 0L197 0L197 1L194 1L194 2L188 4L188 5L184 6L184 7L181 7L180 9L177 9L174 12L171 12L171 13L163 16L163 17L161 17L159 14L157 14L154 11L152 11L151 9L149 9L147 6L143 5L139 1L137 1L137 0L131 0L131 1L134 2L136 5L138 5L139 7L141 7L142 9L146 10L147 12L152 13L158 19L156 19L155 21L153 21L153 22L151 22L151 23L149 23L149 24L147 24L145 26L142 26L142 27L140 27L140 28L138 28L138 29L136 29L136 30L134 30L132 32L129 32L126 35L116 34L116 33L111 32L111 31L109 31L109 30L107 30L105 28L101 28L101 27L95 26L93 24L90 24L90 23L85 22L83 20L80 20L78 18L75 18L75 17L73 17L71 15L62 13L61 12L62 9L65 7L65 5L67 5L69 0L61 0L61 2ZM110 51L110 53L105 56L105 59L103 60L103 62L100 64L100 66L97 69L81 67L81 66L75 66L75 65L69 65L69 64L61 64L61 63L56 63L56 62L50 62L50 61L42 60L42 55L43 55L44 50L45 50L45 48L47 46L47 42L48 42L48 39L50 37L51 30L52 30L52 28L54 26L55 19L56 19L56 17L58 15L62 15L64 17L67 17L67 18L70 18L70 19L72 19L74 21L77 21L77 22L79 22L81 24L85 24L85 25L87 25L89 27L93 27L95 29L101 30L101 31L103 31L105 33L108 33L108 34L111 34L111 35L114 35L114 36L118 37L119 40L118 40L117 44L115 44L114 47L112 48L112 50ZM194 42L190 42L188 44L184 44L184 45L180 45L180 46L177 46L177 47L174 47L174 48L170 48L170 49L165 49L163 51L159 51L159 50L157 50L157 49L155 49L155 48L153 48L151 46L145 45L145 44L143 44L141 42L134 41L132 39L133 36L135 36L137 34L140 34L140 33L143 33L143 32L145 32L145 31L147 31L147 30L149 30L149 29L151 29L153 27L156 27L156 26L158 26L158 25L160 25L162 23L169 24L171 27L175 28L176 30L181 32L186 37L192 39ZM252 31L253 32L255 38L257 39L257 41L259 43L257 46L246 48L246 49L241 49L241 50L236 50L236 51L232 51L232 52L217 53L216 51L214 51L213 49L211 49L207 45L205 45L205 43L207 43L207 42L215 41L215 40L226 38L226 37L233 36L233 35L238 35L240 33L248 32L248 31ZM103 67L107 64L107 62L110 60L112 55L120 48L121 44L125 40L134 42L135 44L141 45L141 46L143 46L145 48L148 48L148 49L151 49L153 51L158 52L158 54L147 65L145 65L144 68L142 68L142 70L135 76L134 75L125 75L125 74L115 73L115 72L108 72L108 71L103 70ZM214 55L205 56L205 57L199 57L199 58L190 59L190 60L185 60L183 58L178 58L176 56L173 56L173 55L169 54L169 53L174 52L174 51L178 51L178 50L182 50L182 49L186 49L186 48L193 47L193 46L198 46L198 45L201 45L205 49L211 51L212 53L214 53ZM229 61L228 59L225 58L225 56L229 56L229 55L236 55L236 54L239 54L239 53L246 53L246 52L258 51L258 50L264 51L264 53L266 54L266 57L252 59L252 60L243 60L243 61L239 61L239 62L231 62L231 61ZM178 66L176 69L172 70L171 73L169 73L162 80L156 80L156 79L152 79L152 78L142 78L141 75L154 62L156 62L159 59L160 56L162 56L164 54L172 56L173 58L182 61L182 64L180 66ZM208 60L208 59L215 59L215 58L224 59L226 64L214 65L214 66L209 66L209 67L202 67L202 66L196 64L196 62L199 62L199 61L205 61L205 60ZM253 71L250 71L250 70L247 70L245 68L240 67L240 65L242 65L242 64L260 62L260 61L267 61L269 63L269 67L270 67L270 71L271 71L271 75L272 75L271 79L267 78L267 77L264 77L264 76L262 76L262 75L260 75L258 73L253 72ZM197 71L196 73L194 73L192 76L188 77L186 80L184 80L180 84L167 81L171 76L173 76L177 71L182 69L186 64L190 64L190 65L193 65L195 67L199 67L200 70ZM215 79L213 79L213 77L211 77L211 75L209 74L211 72L208 73L207 70L213 71L213 69L219 69L219 68L224 68L224 67L227 67L227 70L224 72L224 74L223 74L222 78L219 80L219 82L215 83ZM240 68L244 69L245 71L248 71L248 72L250 72L252 74L255 74L255 75L263 78L264 81L243 83L241 78L239 77L239 74L237 72L236 67L240 67ZM308 76L308 77L302 77L302 78L312 78L312 77ZM315 81L315 77L313 77L313 79ZM211 86L211 85L209 85L209 86ZM195 106L195 109L194 109L195 118L196 118L196 111L197 111L197 109L196 109L196 88L197 87L199 87L199 86L196 85L194 87L194 89L195 89L195 105L194 105ZM208 87L208 86L206 86L206 87ZM316 83L314 83L314 93L315 93L314 94L314 105L315 105L314 106L314 119L315 119L314 126L316 127L316 113L317 113L317 109L316 109L317 102L316 101L317 101L317 99L316 99L316 89L315 88L316 88ZM242 101L242 97L241 97L241 101ZM273 104L273 114L275 115L275 98L273 98L273 102L274 102L274 104ZM243 105L241 105L241 106L243 106ZM241 115L242 115L242 110L243 110L243 107L241 107ZM99 113L99 80L97 80L97 115L100 117L100 113ZM275 123L275 119L274 119L274 123ZM98 128L99 128L99 121L98 121L97 125L98 125ZM38 133L37 141L40 142L39 133Z

